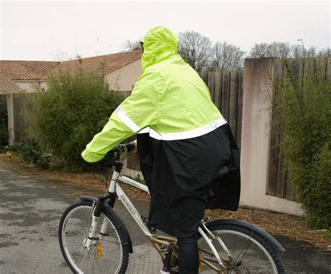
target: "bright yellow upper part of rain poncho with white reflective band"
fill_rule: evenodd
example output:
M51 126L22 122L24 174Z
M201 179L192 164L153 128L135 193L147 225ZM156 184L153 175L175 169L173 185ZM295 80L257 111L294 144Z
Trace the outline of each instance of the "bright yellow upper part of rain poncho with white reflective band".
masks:
M170 29L155 27L142 42L142 75L131 96L82 152L86 161L101 160L142 129L158 140L181 140L202 136L226 123L205 82L177 54L178 37Z

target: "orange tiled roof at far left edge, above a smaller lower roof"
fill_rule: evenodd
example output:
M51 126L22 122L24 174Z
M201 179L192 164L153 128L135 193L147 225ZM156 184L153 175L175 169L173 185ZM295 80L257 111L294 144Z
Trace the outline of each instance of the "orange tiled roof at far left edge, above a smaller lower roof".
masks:
M59 62L48 61L0 61L1 74L11 80L38 80Z

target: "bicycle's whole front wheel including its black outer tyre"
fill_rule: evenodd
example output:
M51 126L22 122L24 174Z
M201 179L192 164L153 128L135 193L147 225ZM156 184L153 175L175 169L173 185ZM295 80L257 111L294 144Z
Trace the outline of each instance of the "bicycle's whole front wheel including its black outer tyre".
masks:
M73 273L125 273L128 266L125 234L122 226L105 208L101 212L97 228L101 228L105 219L109 223L105 235L95 239L90 250L84 248L84 240L91 227L92 206L93 203L89 201L78 201L68 206L62 215L59 223L59 245L64 259Z

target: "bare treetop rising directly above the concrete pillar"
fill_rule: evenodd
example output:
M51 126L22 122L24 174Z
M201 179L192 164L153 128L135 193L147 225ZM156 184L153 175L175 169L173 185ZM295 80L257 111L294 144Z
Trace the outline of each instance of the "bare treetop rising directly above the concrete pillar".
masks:
M249 52L249 58L288 58L290 57L289 43L272 42L255 44Z

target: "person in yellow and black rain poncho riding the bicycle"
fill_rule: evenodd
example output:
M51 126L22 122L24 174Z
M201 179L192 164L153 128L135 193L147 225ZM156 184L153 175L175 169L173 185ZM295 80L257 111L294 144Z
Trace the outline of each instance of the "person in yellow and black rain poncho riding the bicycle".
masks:
M148 224L177 237L179 273L198 273L205 208L237 210L239 153L205 82L177 54L178 37L155 27L141 43L142 75L82 157L99 161L138 134L140 168L151 194Z

